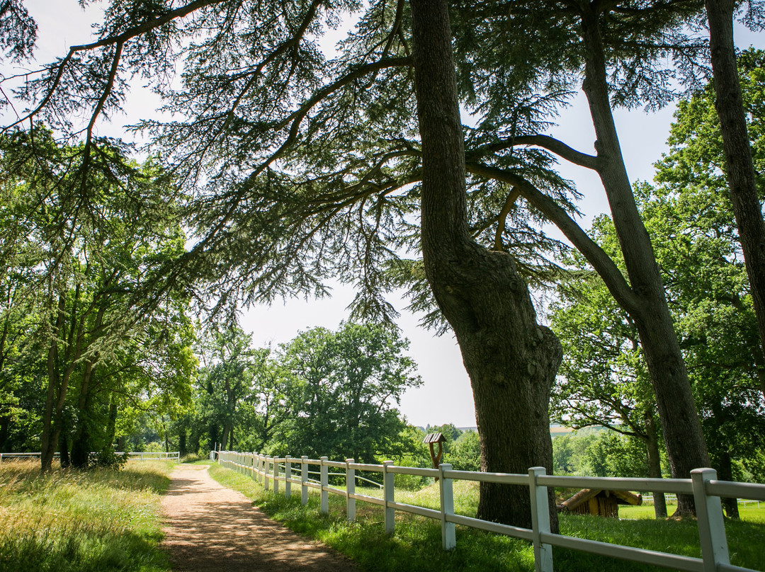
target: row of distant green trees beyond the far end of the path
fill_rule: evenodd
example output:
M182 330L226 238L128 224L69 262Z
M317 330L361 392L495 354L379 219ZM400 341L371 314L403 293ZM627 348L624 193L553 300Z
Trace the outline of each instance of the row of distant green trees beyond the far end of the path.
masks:
M193 406L170 429L181 453L217 447L371 463L412 452L396 407L421 381L397 330L341 323L261 349L251 339L237 327L200 337Z

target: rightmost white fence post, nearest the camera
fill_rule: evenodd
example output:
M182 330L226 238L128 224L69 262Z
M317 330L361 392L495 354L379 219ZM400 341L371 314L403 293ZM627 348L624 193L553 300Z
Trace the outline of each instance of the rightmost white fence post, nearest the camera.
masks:
M715 479L717 479L717 471L714 469L694 469L691 471L693 499L696 503L698 539L702 544L704 572L715 572L718 569L718 564L731 564L720 497L708 496L706 491L706 483Z

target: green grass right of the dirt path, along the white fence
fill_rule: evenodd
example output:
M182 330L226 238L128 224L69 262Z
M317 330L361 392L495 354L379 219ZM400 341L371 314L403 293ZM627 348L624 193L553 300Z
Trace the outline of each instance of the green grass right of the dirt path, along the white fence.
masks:
M210 474L219 483L243 492L266 514L303 535L324 542L346 554L362 570L418 570L441 572L459 570L534 570L529 543L457 526L457 548L441 550L438 522L396 512L396 534L383 534L382 509L366 502L356 502L356 522L345 520L345 499L330 494L330 514L319 512L319 497L310 489L308 505L301 506L299 487L293 486L291 499L283 494L266 492L249 476L223 469L213 463ZM282 487L283 487L282 483ZM297 489L297 493L295 492ZM282 489L283 491L283 489ZM357 489L357 492L361 492ZM363 494L379 496L379 491ZM477 507L476 483L454 482L454 508L458 514L474 516ZM438 509L438 488L418 492L396 490L396 501ZM731 563L754 570L765 570L765 522L726 522ZM616 520L590 516L562 516L561 532L577 538L623 544L637 548L700 557L698 529L692 519L685 520ZM578 551L553 549L556 572L648 572L666 570L638 562L621 561Z

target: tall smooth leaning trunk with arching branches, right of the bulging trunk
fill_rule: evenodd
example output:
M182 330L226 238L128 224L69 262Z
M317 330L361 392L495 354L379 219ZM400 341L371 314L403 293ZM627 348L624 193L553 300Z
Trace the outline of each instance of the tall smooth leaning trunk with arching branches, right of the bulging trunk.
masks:
M610 108L606 63L597 14L587 5L582 29L586 47L583 89L595 128L597 171L601 177L614 227L638 301L625 308L635 321L659 406L672 476L688 479L691 470L709 466L702 426L688 381L688 372L669 314L656 256L640 218L621 154ZM676 515L694 514L693 497L678 497Z

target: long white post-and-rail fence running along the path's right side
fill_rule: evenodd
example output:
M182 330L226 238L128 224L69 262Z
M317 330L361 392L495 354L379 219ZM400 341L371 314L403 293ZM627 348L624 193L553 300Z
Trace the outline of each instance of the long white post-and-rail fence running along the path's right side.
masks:
M308 459L308 457L267 457L258 453L239 453L236 451L213 451L210 459L217 455L221 465L252 476L262 483L266 490L271 486L279 492L279 483L284 483L285 495L291 496L291 486L300 486L301 502L308 502L308 489L321 492L321 512L329 512L329 493L344 496L346 514L350 521L356 519L356 500L382 506L386 534L392 535L396 527L396 511L434 518L441 522L441 544L444 550L455 547L454 525L464 525L480 530L496 532L501 535L522 538L531 541L534 546L536 572L552 572L552 547L569 548L623 560L638 561L645 564L688 570L688 572L756 572L749 568L733 566L728 557L728 540L720 498L735 497L765 501L765 485L754 483L731 483L717 480L714 469L695 469L690 479L623 479L581 476L547 475L543 467L535 466L529 473L474 473L456 471L451 465L441 464L438 469L422 469L410 466L395 466L392 461L382 465L356 463L353 459L330 461L327 457ZM299 473L297 472L300 467ZM318 483L308 478L309 466L318 466L321 479ZM329 484L330 467L340 469L345 475L345 489L338 489ZM382 473L383 498L366 496L356 492L356 471ZM397 474L438 477L441 496L439 510L422 506L396 502L393 479ZM452 480L470 480L483 483L503 483L529 487L532 507L532 528L519 528L487 522L454 514L454 496ZM580 489L614 489L649 492L674 492L695 497L698 522L698 536L702 548L702 557L693 558L679 554L650 551L620 544L591 541L552 534L549 522L548 487Z

